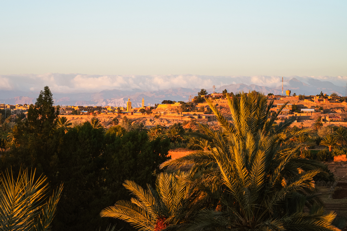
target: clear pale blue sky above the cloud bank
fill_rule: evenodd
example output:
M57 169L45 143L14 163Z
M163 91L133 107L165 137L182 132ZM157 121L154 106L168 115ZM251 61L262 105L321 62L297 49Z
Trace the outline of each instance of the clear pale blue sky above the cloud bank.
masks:
M0 74L347 75L347 1L0 1Z

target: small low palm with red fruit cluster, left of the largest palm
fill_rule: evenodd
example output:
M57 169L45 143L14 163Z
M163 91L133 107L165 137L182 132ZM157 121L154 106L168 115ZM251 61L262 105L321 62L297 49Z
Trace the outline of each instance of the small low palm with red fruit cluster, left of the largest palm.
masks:
M146 190L134 181L126 180L123 185L135 198L118 201L114 206L102 210L100 215L129 222L139 230L162 230L168 225L165 220L183 212L182 203L189 186L184 177L186 174L180 172L177 175L160 173L155 189L147 185Z

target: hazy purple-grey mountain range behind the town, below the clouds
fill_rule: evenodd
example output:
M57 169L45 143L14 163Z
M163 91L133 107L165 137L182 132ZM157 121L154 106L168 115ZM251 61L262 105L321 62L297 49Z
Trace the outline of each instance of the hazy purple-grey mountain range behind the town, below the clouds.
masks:
M191 75L186 75L189 78ZM1 78L1 76L0 76ZM2 77L4 78L4 77ZM72 78L72 77L71 77ZM145 100L145 105L154 105L160 104L163 100L175 100L175 101L188 101L189 96L196 96L197 92L201 90L202 86L211 86L213 82L219 81L227 82L227 77L201 77L199 76L196 82L196 86L198 88L184 88L183 86L187 85L187 83L182 82L182 87L179 86L179 83L172 84L172 88L167 89L158 89L158 90L148 90L151 86L146 82L147 87L141 88L133 88L133 89L112 89L112 90L101 90L98 92L90 92L85 90L85 92L58 92L56 88L53 87L52 93L53 98L56 104L58 105L79 105L79 106L125 106L128 98L132 101L134 107L141 106L142 98ZM253 78L253 77L252 77ZM255 82L263 82L268 86L261 86L256 84L245 84L245 83L235 83L235 80L240 82L252 82L251 77L231 77L231 84L220 84L220 86L216 86L215 92L221 92L224 89L227 89L228 92L239 92L239 91L259 91L264 94L273 93L275 95L282 94L282 85L279 81L280 77L261 77L257 78L258 81ZM333 77L332 77L333 78ZM184 78L183 78L184 79ZM299 79L303 80L300 81ZM142 77L140 78L142 81L149 81L149 79ZM254 80L254 79L253 79ZM271 80L276 80L276 82L271 82ZM324 80L324 79L323 79ZM205 81L205 85L201 85L201 82ZM194 83L191 83L192 86ZM210 85L209 85L210 84ZM141 85L141 83L139 83ZM165 85L164 85L165 86ZM156 87L159 88L159 87ZM1 89L1 88L0 88ZM32 89L32 88L31 88ZM42 88L43 89L43 88ZM205 88L206 89L206 88ZM283 80L283 91L291 90L291 94L296 93L297 95L316 95L321 91L323 93L327 93L328 95L332 92L336 92L340 96L345 96L346 87L337 86L330 81L321 81L319 79L314 79L310 77L286 77ZM206 89L209 93L213 92L212 88ZM0 91L0 101L3 103L5 101L6 104L32 104L35 103L35 99L39 95L38 91L25 91L25 90L12 90L12 89L2 89Z

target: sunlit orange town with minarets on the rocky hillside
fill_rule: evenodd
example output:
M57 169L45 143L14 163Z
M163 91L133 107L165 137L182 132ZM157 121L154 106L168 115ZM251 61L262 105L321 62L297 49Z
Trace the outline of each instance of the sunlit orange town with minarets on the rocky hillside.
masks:
M227 90L222 93L213 92L208 94L205 89L201 89L198 95L191 97L188 102L163 100L161 104L154 106L145 106L145 100L142 99L142 107L132 107L131 99L129 98L126 107L112 106L56 106L59 108L59 114L64 116L81 116L80 119L89 118L92 116L107 117L109 116L127 116L129 118L140 117L161 117L166 119L191 120L196 119L200 122L214 121L214 115L210 109L206 99L211 101L218 109L221 110L225 118L231 119L230 111L228 110ZM268 101L273 100L270 109L270 116L274 116L283 105L285 105L278 119L283 120L289 117L295 117L295 122L310 126L313 120L321 117L325 124L339 123L347 126L347 98L340 97L336 93L330 96L327 94L317 94L315 96L291 95L290 90L286 90L286 94L273 95L268 94ZM0 109L6 109L5 113L11 118L25 118L29 105L24 104L0 104ZM75 117L76 117L75 116ZM77 118L77 117L76 117ZM346 123L346 124L345 124ZM295 123L294 123L295 124ZM151 124L147 124L150 126Z

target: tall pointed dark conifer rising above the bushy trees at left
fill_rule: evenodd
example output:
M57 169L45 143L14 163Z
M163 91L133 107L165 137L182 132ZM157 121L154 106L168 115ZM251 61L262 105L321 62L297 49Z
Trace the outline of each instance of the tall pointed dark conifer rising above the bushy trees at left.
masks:
M35 167L38 172L45 172L47 177L55 171L50 163L59 145L59 135L55 135L54 121L58 112L54 108L53 96L48 86L40 91L35 105L30 105L27 119L19 121L12 129L14 148L11 148L6 161L14 169L20 165ZM63 131L64 132L64 131Z

